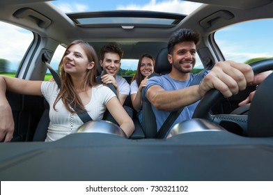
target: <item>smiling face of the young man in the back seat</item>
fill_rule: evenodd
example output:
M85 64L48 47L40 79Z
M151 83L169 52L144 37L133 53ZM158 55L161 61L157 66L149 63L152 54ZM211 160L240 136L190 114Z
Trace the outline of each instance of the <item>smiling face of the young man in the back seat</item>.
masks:
M100 66L103 69L103 74L109 74L111 76L116 76L118 70L120 69L120 56L116 53L105 53L104 59L100 60Z

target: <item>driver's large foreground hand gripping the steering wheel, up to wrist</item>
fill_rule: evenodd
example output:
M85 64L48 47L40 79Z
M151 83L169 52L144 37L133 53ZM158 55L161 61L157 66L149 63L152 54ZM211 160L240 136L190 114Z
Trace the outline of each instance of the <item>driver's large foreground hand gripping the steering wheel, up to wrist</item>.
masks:
M199 93L205 95L216 88L228 98L253 84L254 74L250 65L235 61L217 62L199 85Z

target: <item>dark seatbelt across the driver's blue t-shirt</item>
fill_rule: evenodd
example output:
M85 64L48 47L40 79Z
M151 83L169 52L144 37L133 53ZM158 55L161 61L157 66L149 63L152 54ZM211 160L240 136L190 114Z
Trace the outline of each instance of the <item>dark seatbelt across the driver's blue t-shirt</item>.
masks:
M189 84L189 86L200 84L201 80L203 79L204 72L206 70L208 70L208 67L204 68L201 72L199 72L198 75L196 75L196 77L194 77L194 79ZM163 125L160 127L159 131L157 132L156 138L158 138L158 139L166 138L167 134L170 131L171 125L173 125L174 121L176 121L176 118L178 118L178 116L181 114L181 112L183 111L184 108L185 107L182 107L182 108L178 109L177 111L172 111L171 114L169 114L168 118L166 118Z

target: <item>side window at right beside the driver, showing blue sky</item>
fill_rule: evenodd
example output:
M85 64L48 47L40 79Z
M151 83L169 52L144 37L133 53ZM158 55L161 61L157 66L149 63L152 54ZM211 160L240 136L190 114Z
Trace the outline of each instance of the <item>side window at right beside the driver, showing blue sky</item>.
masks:
M251 63L273 57L272 19L242 22L217 31L214 40L225 59Z

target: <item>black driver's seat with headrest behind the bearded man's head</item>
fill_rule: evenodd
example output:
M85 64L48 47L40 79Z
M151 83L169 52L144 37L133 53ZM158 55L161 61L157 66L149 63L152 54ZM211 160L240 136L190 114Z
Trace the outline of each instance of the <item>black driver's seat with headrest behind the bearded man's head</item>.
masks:
M162 48L155 58L155 72L150 77L166 75L171 72L171 63L168 60L168 48ZM150 78L149 77L149 78ZM142 99L142 128L146 138L155 138L157 136L157 123L152 106L146 97L146 90L141 91Z

